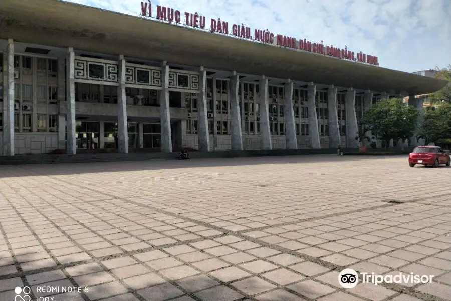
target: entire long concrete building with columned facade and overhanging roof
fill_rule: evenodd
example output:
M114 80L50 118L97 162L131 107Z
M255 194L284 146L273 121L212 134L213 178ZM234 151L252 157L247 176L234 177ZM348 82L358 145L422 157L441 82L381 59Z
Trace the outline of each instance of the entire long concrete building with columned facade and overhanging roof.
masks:
M4 156L357 147L372 103L421 108L446 84L56 0L3 0L0 16Z

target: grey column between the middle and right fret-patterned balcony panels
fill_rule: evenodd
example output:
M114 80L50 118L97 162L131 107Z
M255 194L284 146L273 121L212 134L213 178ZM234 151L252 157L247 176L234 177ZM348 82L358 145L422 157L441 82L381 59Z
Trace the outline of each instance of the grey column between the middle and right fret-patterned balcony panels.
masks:
M161 152L172 153L171 117L169 109L169 66L161 67L160 93Z

